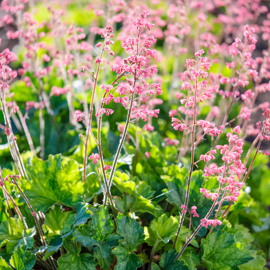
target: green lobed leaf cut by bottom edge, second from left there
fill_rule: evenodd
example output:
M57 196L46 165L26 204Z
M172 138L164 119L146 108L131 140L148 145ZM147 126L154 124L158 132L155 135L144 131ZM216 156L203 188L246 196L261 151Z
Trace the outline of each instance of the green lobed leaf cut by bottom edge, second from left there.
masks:
M97 262L91 254L81 254L81 247L75 247L71 240L64 241L64 248L67 253L62 255L57 264L57 270L96 270Z

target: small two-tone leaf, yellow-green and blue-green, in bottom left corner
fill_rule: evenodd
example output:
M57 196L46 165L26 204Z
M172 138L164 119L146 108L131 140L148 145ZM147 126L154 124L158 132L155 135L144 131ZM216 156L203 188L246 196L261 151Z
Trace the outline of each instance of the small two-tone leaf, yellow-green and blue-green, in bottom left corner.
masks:
M17 247L14 254L11 256L10 264L16 270L31 270L34 266L36 256L30 251L26 251L27 246L22 245Z

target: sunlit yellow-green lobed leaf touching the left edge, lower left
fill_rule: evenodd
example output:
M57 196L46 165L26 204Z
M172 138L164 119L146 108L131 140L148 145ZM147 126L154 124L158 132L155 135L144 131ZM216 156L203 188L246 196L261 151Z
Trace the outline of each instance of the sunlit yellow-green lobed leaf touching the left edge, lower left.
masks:
M27 243L33 247L35 228L24 229L23 221L19 218L9 218L0 225L0 247L7 246L7 252L12 253L18 245Z

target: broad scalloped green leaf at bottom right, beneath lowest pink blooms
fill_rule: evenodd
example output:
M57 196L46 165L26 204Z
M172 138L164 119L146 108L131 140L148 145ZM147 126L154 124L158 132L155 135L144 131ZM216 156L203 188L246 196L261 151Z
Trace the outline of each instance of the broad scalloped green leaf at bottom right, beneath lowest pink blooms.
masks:
M233 270L240 264L253 260L250 251L246 250L245 243L235 243L233 234L217 232L202 239L202 259L216 270Z

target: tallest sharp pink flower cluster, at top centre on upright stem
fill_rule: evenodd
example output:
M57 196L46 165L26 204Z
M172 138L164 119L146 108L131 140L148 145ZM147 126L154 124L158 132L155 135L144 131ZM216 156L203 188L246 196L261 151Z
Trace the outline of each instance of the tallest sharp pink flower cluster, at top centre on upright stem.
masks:
M137 37L126 38L125 43L122 44L125 51L131 53L131 55L123 60L123 64L118 63L111 67L111 71L116 72L118 76L125 74L126 79L122 80L121 84L115 89L113 89L112 85L100 86L100 89L104 90L104 95L101 99L102 105L96 112L97 117L104 113L106 113L106 115L113 113L112 109L103 108L103 104L108 105L111 101L120 103L126 109L129 109L130 102L132 102L132 121L137 119L146 121L148 115L158 117L159 109L151 109L146 105L151 96L162 94L160 83L148 85L145 81L146 78L158 72L155 66L144 67L147 57L156 57L156 51L149 49L150 46L157 41L153 35L146 37L142 42L140 41L140 34L143 28L151 29L153 27L152 23L144 21L148 14L148 11L142 12L140 17L133 23L133 25L137 27ZM132 78L129 78L129 75L131 75ZM140 79L142 79L142 84L139 84ZM115 96L114 93L118 94L118 96Z

